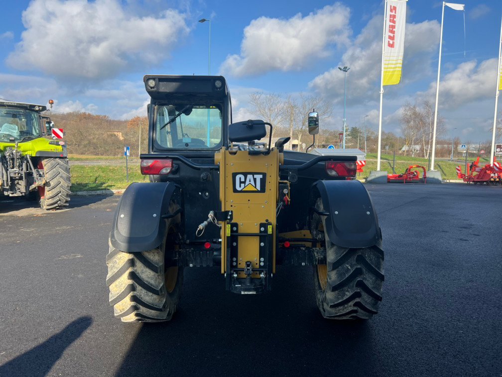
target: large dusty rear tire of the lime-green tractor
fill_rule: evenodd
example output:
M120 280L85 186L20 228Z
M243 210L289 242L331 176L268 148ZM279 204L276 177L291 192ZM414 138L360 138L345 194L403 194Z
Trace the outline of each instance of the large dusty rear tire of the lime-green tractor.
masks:
M38 187L40 207L56 210L68 206L70 201L70 164L67 158L42 158L39 169L44 169L45 185Z

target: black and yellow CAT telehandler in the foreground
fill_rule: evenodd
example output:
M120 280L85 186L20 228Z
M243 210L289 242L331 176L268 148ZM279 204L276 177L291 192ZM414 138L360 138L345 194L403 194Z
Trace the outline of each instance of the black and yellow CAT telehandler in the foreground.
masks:
M232 123L222 76L146 75L149 147L116 207L106 257L109 303L123 322L168 321L183 269L219 266L226 290L273 288L279 264L313 269L331 319L369 319L382 300L382 233L355 156L271 145L273 125ZM309 114L309 133L319 130ZM315 136L314 136L315 137Z

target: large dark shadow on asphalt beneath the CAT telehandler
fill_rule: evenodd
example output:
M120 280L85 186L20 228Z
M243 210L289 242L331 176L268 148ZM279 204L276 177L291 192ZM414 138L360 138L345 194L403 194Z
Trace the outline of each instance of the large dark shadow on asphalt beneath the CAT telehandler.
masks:
M122 324L139 332L116 376L373 374L370 325L323 319L311 271L278 268L272 292L250 297L225 292L219 270L186 269L172 321Z

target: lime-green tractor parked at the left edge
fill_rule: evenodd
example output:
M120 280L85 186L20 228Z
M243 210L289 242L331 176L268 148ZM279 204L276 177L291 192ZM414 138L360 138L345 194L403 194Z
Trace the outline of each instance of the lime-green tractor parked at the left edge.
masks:
M70 165L64 141L50 140L45 106L0 101L0 193L39 200L44 210L70 201Z

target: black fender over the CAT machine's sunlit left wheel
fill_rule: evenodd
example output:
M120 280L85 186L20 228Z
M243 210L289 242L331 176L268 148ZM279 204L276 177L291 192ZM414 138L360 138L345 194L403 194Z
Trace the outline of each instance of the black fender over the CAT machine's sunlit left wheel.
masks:
M166 219L173 218L171 201L178 198L178 186L172 182L132 183L115 210L110 232L112 246L131 253L159 246L168 231ZM180 203L177 205L179 208Z

